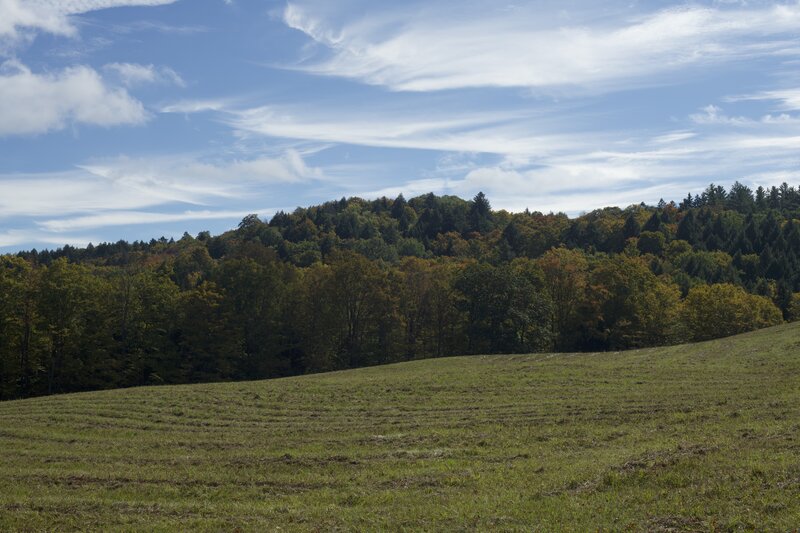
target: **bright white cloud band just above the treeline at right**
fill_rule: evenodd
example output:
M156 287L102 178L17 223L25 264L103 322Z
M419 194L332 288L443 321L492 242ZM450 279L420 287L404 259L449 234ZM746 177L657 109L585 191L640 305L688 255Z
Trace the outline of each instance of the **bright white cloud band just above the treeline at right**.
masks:
M735 134L673 132L632 146L611 143L616 145L612 150L569 151L518 161L505 158L356 194L373 198L432 191L469 198L483 191L496 208L575 215L609 205L679 200L710 181L730 184L739 180L755 187L796 180L800 175L796 170L797 129L768 135L756 128L759 125L770 127L762 121L753 128L737 129Z

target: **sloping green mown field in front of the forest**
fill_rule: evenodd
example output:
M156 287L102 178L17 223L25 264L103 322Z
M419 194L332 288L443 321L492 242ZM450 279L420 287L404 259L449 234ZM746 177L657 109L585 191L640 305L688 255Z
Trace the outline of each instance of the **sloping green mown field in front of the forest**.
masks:
M0 404L0 530L794 530L800 324Z

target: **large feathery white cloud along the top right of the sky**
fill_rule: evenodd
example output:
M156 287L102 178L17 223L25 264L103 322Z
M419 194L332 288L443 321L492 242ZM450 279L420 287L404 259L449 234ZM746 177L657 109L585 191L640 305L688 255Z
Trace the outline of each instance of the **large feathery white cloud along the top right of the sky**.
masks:
M327 4L289 3L285 24L329 50L300 68L403 91L607 90L668 81L654 77L691 66L791 53L800 29L797 3L628 10L615 23L589 12L563 18L538 4L454 10L448 2L404 3L377 13L375 5L362 6L363 18L337 23Z

